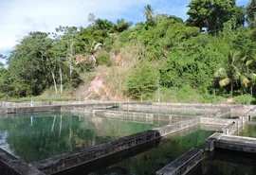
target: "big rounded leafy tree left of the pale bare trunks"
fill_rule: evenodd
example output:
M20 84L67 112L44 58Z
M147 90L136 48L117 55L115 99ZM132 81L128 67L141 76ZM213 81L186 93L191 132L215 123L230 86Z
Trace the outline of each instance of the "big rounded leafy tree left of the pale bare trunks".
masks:
M46 61L51 45L48 33L37 31L30 32L15 46L8 61L12 96L36 96L48 87L51 80Z

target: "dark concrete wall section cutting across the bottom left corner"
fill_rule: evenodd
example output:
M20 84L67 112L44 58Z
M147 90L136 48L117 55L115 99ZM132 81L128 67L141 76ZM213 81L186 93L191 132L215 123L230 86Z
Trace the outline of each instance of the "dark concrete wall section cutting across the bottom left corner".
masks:
M7 175L45 175L34 166L10 155L7 151L0 149L0 174Z

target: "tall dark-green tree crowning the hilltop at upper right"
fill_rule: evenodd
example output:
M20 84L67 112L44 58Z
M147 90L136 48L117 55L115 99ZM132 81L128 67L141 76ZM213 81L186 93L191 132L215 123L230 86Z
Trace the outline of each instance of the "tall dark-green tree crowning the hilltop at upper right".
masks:
M225 23L232 26L243 26L245 22L245 9L237 7L235 0L192 0L187 12L189 26L198 26L201 29L221 30Z

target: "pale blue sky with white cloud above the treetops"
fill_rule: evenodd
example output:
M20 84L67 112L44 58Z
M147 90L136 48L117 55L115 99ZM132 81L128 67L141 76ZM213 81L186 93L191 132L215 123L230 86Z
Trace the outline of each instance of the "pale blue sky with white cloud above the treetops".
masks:
M29 31L55 31L58 26L88 25L89 13L116 22L124 18L134 24L145 21L148 4L155 14L166 13L186 20L191 0L0 0L0 54L8 55ZM237 0L246 6L249 0ZM1 60L0 60L1 61Z

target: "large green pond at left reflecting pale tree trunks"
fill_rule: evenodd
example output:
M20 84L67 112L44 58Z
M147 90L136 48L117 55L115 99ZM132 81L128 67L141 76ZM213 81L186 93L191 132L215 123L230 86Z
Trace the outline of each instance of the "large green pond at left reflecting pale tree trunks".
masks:
M32 163L165 124L59 112L12 114L0 119L0 148Z

